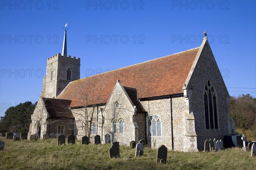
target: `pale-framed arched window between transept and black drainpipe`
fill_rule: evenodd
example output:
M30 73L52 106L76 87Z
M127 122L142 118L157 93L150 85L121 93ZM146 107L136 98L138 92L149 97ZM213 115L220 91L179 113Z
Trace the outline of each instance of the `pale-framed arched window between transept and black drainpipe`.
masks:
M148 136L161 136L161 117L150 115L147 117Z

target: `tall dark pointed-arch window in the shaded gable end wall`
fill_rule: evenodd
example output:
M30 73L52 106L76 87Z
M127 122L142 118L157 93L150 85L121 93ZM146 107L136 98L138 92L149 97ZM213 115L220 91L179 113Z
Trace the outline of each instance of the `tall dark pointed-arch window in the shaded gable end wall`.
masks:
M204 87L204 113L206 129L218 129L217 96L210 80Z

